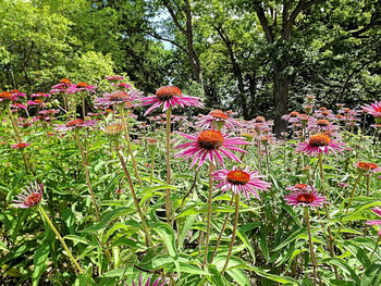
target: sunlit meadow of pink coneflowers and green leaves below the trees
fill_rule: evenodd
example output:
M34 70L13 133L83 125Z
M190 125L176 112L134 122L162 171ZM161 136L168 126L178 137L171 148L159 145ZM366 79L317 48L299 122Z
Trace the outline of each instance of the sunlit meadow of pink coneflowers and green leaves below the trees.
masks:
M381 102L306 96L276 138L105 80L0 94L2 285L381 284Z

